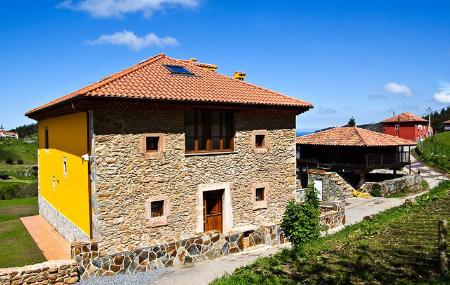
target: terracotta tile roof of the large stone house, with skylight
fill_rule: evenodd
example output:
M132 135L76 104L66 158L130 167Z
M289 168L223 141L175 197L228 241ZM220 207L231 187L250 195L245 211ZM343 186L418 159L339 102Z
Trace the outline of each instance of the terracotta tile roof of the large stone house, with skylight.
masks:
M172 74L165 65L183 66L193 75ZM27 115L80 97L312 107L306 101L227 77L208 70L201 64L159 54L35 108L27 112Z

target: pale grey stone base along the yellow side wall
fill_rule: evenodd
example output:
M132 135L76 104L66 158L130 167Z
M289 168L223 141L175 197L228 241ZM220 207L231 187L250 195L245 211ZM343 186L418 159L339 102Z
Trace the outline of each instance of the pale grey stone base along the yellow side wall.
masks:
M38 195L39 215L44 217L69 242L88 241L89 237L58 210L56 210L44 197Z

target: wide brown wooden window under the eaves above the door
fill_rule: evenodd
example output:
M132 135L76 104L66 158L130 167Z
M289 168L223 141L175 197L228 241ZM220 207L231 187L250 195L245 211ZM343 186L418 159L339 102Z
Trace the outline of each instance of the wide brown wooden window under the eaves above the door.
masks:
M187 152L233 151L232 111L192 110L184 117Z

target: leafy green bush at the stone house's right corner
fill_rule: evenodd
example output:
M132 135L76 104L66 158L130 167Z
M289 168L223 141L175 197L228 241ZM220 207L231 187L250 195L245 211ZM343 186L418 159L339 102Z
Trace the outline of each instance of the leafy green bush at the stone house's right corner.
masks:
M306 190L304 203L289 201L283 214L281 227L292 245L297 248L319 237L319 199L312 185Z

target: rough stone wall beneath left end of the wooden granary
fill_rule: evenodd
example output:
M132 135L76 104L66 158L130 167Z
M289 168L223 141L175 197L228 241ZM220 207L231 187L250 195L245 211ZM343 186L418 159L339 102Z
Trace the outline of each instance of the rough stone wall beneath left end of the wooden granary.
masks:
M322 181L323 201L343 201L352 197L352 191L355 190L336 172L309 170L308 184L314 184L314 180Z

